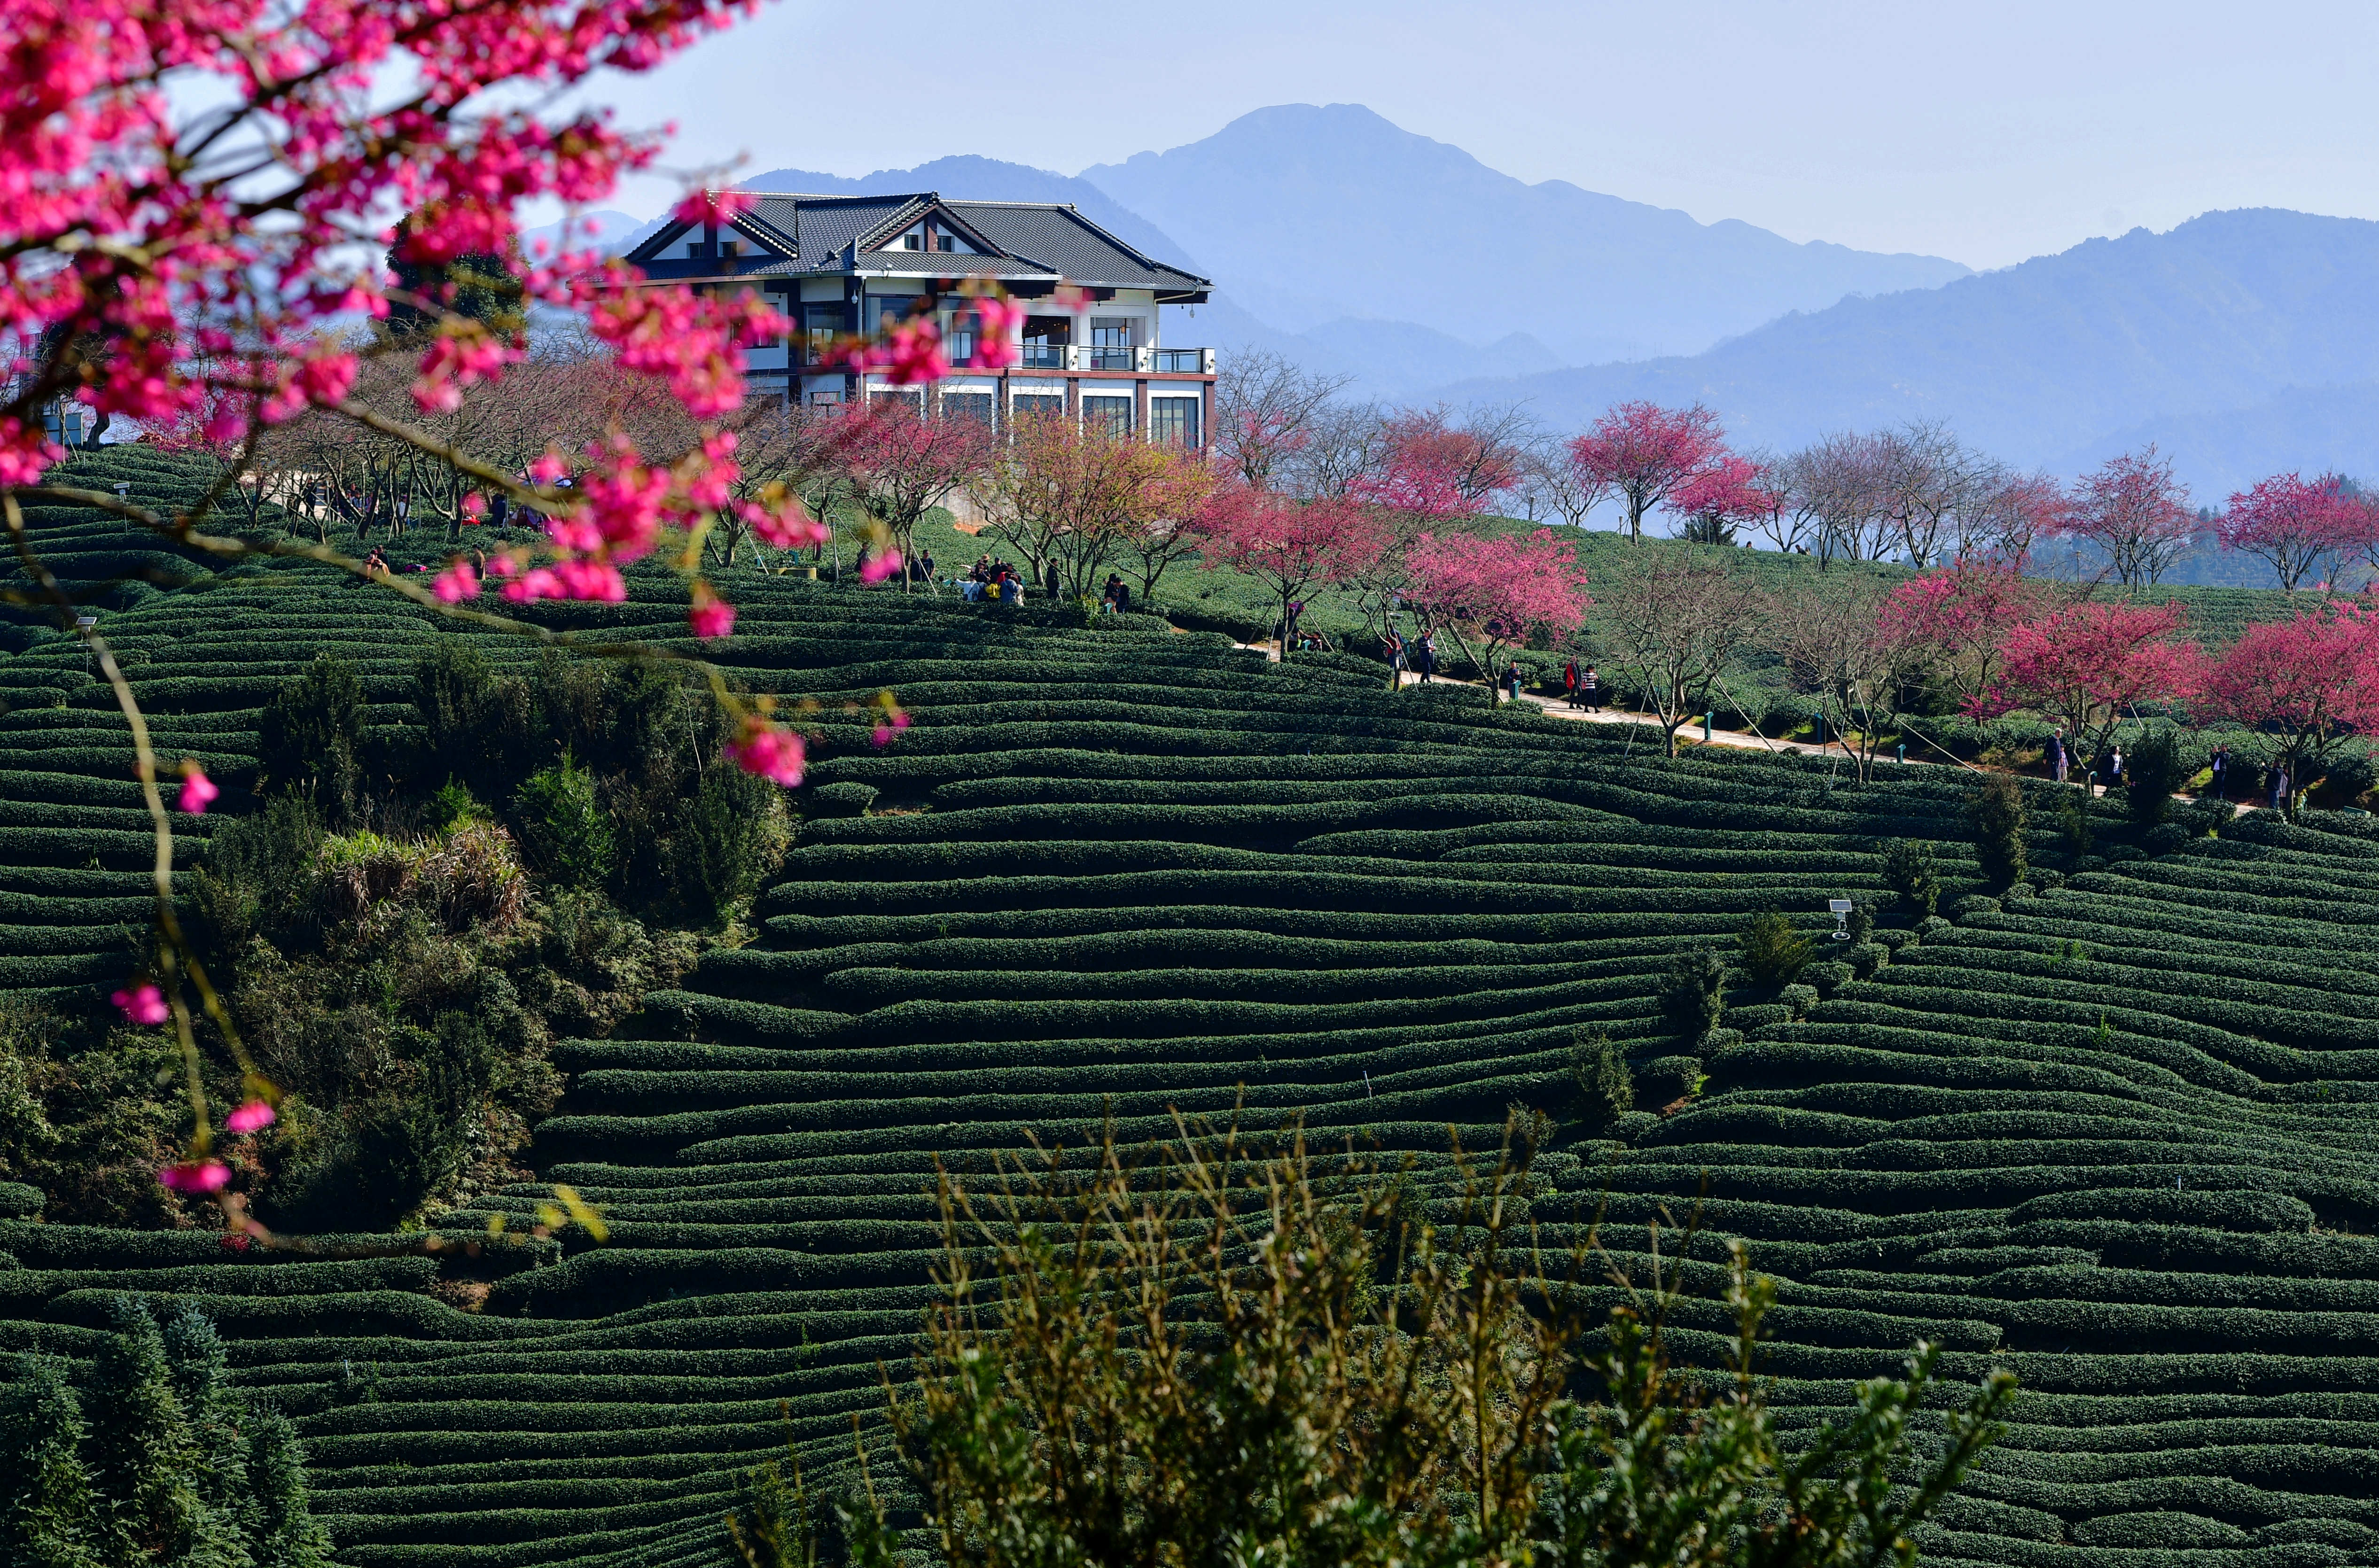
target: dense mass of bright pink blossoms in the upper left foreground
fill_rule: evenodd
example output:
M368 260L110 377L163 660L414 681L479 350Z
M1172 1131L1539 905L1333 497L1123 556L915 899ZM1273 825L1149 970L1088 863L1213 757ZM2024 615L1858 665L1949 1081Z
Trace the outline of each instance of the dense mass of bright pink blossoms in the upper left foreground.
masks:
M278 421L340 402L354 357L328 347L331 328L385 309L378 276L357 264L359 233L393 209L435 212L407 226L407 255L504 255L521 202L607 197L659 143L595 109L552 119L542 105L600 69L649 69L749 10L0 0L0 321L26 343L102 345L17 378L0 402L0 483L33 483L62 457L36 414L62 395L212 440L233 440L250 409ZM385 93L400 76L404 88ZM243 152L176 157L190 148ZM730 217L742 200L709 207ZM526 286L585 307L597 288L585 266L559 257ZM602 300L597 331L697 416L740 400L735 340L785 328L764 307L673 288ZM197 321L240 321L238 347ZM452 407L511 357L483 331L442 333L416 397Z

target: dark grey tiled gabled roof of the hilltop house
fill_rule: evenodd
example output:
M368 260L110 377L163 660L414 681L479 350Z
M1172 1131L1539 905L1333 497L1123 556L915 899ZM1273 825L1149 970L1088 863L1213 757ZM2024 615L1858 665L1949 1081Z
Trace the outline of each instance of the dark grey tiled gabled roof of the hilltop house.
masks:
M885 250L918 219L933 217L980 255ZM654 278L714 276L975 276L1002 283L1080 283L1085 288L1151 288L1173 305L1199 305L1206 278L1132 250L1073 207L1056 202L963 202L937 190L914 195L780 195L754 193L733 231L752 255L733 262L661 262L690 224L664 224L628 252Z

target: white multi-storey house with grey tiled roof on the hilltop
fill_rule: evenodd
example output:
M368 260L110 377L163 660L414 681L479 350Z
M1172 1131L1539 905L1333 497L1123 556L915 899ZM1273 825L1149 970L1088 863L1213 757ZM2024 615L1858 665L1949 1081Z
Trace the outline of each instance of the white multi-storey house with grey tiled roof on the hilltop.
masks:
M1147 257L1073 207L921 195L766 195L726 224L666 224L628 259L657 281L759 288L795 321L747 352L754 390L806 404L911 397L928 416L1099 421L1199 447L1213 431L1213 350L1166 347L1159 305L1204 305L1206 278ZM959 293L999 283L1025 305L1016 364L968 371L978 321ZM1059 290L1068 290L1063 302ZM933 312L956 369L930 388L828 366L845 333Z

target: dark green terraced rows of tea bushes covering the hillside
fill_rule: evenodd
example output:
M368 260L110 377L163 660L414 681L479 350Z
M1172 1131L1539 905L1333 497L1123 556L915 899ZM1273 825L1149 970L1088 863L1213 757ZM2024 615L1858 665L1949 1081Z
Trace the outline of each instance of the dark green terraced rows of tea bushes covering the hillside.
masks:
M102 535L76 576L126 569ZM683 600L645 592L571 619L678 638ZM1956 771L1661 761L1151 619L730 592L721 664L818 700L821 761L759 940L564 1047L538 1168L609 1242L571 1230L459 1311L428 1290L485 1266L457 1249L231 1252L38 1223L0 1187L0 1347L88 1356L121 1290L202 1302L238 1378L297 1416L357 1568L723 1563L778 1401L830 1466L904 1363L937 1159L1237 1106L1432 1185L1451 1137L1492 1147L1527 1106L1556 1125L1549 1244L1601 1209L1642 1247L1701 1192L1694 1256L1751 1244L1782 1282L1765 1371L1794 1420L1917 1337L1956 1378L2022 1375L1925 1561L2379 1563L2379 838L2258 814L2127 847L2101 807L2105 861L1989 899ZM316 569L143 590L105 626L167 757L233 783L316 650L402 740L412 661L469 635ZM842 704L885 685L916 723L878 749ZM86 1004L145 921L124 726L55 633L0 657L0 983ZM1732 952L1765 909L1827 933L1832 897L1889 907L1891 838L1939 847L1946 918L1887 916L1806 987L1730 990L1718 1033L1672 1033L1670 957ZM1639 1109L1608 1125L1573 1073L1596 1030L1637 1064ZM1715 1349L1715 1309L1684 1323Z

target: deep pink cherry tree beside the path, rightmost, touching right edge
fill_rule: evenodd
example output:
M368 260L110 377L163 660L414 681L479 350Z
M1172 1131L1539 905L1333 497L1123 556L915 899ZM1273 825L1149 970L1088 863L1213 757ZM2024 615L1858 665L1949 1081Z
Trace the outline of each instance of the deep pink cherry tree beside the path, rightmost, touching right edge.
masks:
M2339 600L2291 621L2260 621L2205 680L2208 700L2279 738L2289 778L2320 764L2346 730L2379 726L2379 609Z

